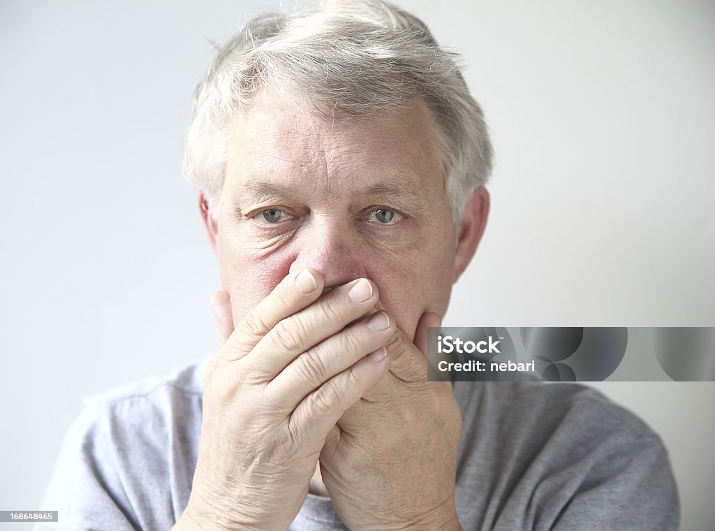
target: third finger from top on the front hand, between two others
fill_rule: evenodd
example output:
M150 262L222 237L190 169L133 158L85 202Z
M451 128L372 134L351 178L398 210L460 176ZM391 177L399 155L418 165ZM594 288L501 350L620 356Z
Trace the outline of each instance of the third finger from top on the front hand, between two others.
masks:
M395 320L387 313L365 317L297 356L275 376L266 391L292 397L292 410L307 394L364 356L375 351L387 354L384 345L394 332Z

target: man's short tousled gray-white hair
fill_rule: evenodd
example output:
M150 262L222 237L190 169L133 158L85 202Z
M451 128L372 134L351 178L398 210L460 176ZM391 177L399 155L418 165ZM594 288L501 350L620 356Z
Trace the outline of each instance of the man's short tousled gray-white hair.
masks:
M220 49L194 94L184 177L209 207L221 193L230 127L262 87L310 112L373 117L422 98L438 125L446 193L455 223L492 169L484 115L459 56L412 14L380 0L316 1L290 14L257 16ZM323 109L323 110L321 110Z

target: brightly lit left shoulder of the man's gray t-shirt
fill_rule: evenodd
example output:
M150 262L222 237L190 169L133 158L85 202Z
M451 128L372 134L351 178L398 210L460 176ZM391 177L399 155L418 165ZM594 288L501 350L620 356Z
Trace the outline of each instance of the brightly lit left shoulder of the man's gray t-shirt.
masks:
M44 506L58 507L68 529L171 527L188 500L207 361L85 399Z

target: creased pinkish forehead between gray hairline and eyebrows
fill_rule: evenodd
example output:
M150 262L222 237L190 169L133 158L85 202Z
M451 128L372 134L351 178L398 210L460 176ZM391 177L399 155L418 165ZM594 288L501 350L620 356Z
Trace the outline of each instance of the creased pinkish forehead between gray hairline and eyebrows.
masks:
M425 180L428 168L443 175L434 165L440 157L434 156L431 115L423 120L414 115L415 107L420 104L405 106L409 115L395 109L378 117L330 120L295 107L257 105L248 111L250 120L239 121L248 135L239 148L247 155L240 181L275 180L287 185L283 193L295 188L292 197L305 199L322 194L323 202L400 195L405 203L424 204L437 185ZM426 143L425 133L431 137Z

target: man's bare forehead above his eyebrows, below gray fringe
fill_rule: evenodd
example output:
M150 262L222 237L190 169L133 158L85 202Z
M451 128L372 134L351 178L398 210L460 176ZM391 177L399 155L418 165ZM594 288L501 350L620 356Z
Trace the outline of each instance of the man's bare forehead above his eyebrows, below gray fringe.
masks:
M389 194L431 188L425 181L441 177L435 126L421 101L336 121L264 98L236 120L227 164L236 193L312 182Z

